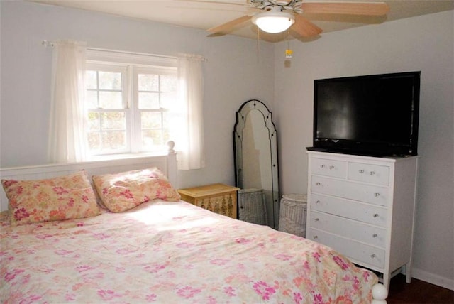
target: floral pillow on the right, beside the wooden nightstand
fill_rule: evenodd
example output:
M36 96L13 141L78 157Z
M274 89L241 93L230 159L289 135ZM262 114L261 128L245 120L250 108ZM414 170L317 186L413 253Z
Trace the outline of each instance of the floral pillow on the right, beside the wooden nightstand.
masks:
M130 210L155 198L180 199L177 190L157 168L93 175L92 180L104 206L111 212Z

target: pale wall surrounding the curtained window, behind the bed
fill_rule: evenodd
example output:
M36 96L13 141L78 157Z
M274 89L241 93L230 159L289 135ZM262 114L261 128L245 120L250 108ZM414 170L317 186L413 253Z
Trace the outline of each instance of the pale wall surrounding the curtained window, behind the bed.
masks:
M91 48L204 55L206 168L184 171L180 187L233 185L235 112L248 99L270 103L273 45L205 31L24 1L0 1L0 167L47 162L52 49L42 40L87 41Z

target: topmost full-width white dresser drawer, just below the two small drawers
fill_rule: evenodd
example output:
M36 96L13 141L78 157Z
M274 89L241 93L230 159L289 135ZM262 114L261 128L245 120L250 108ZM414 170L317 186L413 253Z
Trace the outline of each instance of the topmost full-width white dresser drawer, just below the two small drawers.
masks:
M387 206L389 188L312 175L311 192Z

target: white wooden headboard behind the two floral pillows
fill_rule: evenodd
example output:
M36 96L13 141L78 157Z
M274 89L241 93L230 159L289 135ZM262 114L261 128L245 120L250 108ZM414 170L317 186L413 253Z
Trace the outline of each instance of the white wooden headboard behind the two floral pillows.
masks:
M0 179L40 180L67 175L78 170L86 170L92 175L120 173L128 170L138 170L157 167L177 188L177 156L170 149L168 155L145 156L138 158L116 159L111 161L90 161L85 163L34 165L18 168L0 168ZM1 186L0 186L1 188ZM0 211L8 210L8 199L3 189L0 189Z

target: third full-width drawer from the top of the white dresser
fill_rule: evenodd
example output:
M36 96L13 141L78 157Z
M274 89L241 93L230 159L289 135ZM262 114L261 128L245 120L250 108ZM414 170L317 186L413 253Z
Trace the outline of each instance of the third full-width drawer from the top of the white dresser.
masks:
M311 228L331 232L341 237L349 237L384 249L386 232L382 228L316 211L311 212L310 219Z

